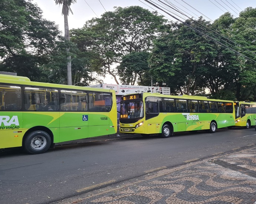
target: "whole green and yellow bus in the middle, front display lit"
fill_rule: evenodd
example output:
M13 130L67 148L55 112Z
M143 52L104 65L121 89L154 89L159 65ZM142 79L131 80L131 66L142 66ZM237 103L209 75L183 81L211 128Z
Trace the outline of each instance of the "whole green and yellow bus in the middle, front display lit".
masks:
M120 102L119 131L142 136L209 130L235 124L234 102L203 96L171 96L160 93L124 95Z

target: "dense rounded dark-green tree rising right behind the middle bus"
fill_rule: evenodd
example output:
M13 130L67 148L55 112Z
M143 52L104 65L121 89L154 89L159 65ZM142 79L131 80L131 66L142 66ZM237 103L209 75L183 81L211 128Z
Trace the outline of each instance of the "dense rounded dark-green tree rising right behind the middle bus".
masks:
M186 24L209 26L209 22L202 18L187 20ZM211 43L184 24L170 23L166 32L154 42L150 57L151 75L167 83L173 94L204 92L205 86L200 82L206 69L204 62L216 55Z

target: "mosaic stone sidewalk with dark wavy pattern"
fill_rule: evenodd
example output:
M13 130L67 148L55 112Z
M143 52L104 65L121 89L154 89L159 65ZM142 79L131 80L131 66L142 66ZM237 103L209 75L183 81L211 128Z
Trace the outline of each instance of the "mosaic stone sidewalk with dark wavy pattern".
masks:
M256 147L72 203L256 204Z

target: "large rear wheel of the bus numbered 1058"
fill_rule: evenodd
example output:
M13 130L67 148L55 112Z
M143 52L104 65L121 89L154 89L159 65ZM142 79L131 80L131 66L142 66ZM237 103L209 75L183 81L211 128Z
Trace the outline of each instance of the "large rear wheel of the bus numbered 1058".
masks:
M30 154L42 154L51 145L51 137L45 131L33 131L24 140L24 149Z

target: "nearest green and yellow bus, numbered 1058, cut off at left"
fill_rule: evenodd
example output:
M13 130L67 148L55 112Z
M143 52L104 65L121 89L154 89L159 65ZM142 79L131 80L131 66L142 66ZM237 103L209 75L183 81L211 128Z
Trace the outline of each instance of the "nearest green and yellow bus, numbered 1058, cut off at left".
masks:
M113 90L0 74L0 148L40 154L55 143L116 134Z

